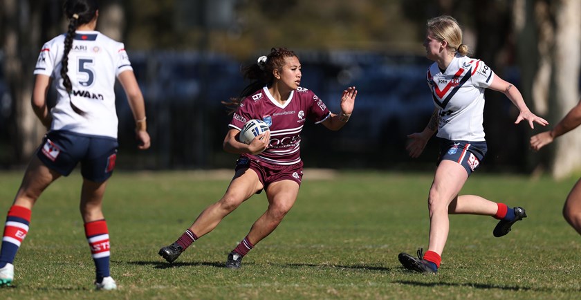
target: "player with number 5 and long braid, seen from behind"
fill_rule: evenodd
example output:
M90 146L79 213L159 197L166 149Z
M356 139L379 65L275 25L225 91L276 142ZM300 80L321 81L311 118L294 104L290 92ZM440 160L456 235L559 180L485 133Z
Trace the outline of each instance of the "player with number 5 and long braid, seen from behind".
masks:
M31 160L4 227L0 250L0 285L14 279L14 259L28 233L30 213L42 191L81 165L80 211L95 263L95 288L117 288L109 271L109 230L102 213L107 180L117 157L118 119L113 85L116 78L127 93L136 120L138 149L148 149L143 96L127 53L118 43L95 31L99 15L95 0L68 0L64 15L68 32L42 47L35 68L33 110L48 129ZM48 109L50 84L57 90Z

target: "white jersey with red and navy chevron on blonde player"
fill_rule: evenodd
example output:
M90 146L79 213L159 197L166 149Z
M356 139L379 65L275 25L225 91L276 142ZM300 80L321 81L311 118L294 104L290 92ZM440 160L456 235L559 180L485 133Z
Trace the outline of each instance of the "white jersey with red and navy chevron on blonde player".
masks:
M479 59L456 55L444 72L434 63L427 84L439 109L438 136L447 140L484 141L484 90L495 73Z

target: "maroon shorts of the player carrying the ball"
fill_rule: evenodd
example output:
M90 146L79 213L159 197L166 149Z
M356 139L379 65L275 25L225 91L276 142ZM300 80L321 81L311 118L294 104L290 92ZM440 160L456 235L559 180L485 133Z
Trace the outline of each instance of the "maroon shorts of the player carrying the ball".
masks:
M302 167L302 161L294 165L273 165L247 156L241 156L236 161L236 171L239 169L254 170L258 175L258 180L260 180L264 186L264 189L266 189L270 183L280 180L293 180L294 182L297 182L300 187L303 175ZM260 191L257 192L257 194L259 193Z

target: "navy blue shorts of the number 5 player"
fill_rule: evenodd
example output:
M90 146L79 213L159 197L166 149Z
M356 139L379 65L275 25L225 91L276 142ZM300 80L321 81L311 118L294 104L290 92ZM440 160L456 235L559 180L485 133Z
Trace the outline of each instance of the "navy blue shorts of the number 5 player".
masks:
M80 162L83 178L103 182L113 174L118 147L115 138L50 131L44 135L37 156L63 176L71 174Z

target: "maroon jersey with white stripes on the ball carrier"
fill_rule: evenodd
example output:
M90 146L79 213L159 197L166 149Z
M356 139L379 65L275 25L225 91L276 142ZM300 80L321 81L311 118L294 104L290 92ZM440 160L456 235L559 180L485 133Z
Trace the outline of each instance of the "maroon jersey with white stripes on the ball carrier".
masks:
M319 124L330 116L329 109L313 91L299 87L280 104L265 86L242 100L228 126L241 130L249 120L263 120L270 126L270 145L257 156L243 156L273 165L293 165L301 161L300 134L306 120Z

